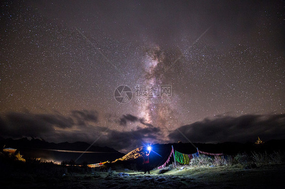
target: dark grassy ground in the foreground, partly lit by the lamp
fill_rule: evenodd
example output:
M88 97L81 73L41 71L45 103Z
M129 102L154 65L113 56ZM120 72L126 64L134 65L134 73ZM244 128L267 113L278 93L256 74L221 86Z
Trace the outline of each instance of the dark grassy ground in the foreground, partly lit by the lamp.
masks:
M126 173L126 174L123 174ZM240 167L204 167L169 169L163 174L135 171L66 173L49 175L13 175L1 180L2 188L285 188L285 165L242 169Z

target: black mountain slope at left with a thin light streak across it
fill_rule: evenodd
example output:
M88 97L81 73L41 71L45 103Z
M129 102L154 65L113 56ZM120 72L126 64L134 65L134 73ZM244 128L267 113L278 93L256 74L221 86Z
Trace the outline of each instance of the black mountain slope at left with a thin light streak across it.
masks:
M77 160L78 163L99 163L114 161L121 158L122 154L109 147L90 146L85 142L75 143L49 143L42 138L0 139L0 145L5 148L17 149L24 158L41 158L48 161L70 161ZM86 149L88 149L86 151ZM84 153L84 151L86 151Z

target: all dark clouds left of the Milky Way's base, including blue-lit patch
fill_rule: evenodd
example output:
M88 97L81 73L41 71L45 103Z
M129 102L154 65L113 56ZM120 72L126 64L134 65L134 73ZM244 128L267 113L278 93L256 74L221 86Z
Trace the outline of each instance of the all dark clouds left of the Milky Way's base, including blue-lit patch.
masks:
M127 121L140 122L148 127L137 126L135 129L123 131L98 125L86 124L97 122L96 111L72 111L70 116L56 114L8 113L0 117L0 136L2 137L42 137L56 143L69 141L86 141L95 145L108 146L116 150L133 150L148 143L158 143L161 138L160 129L145 123L133 115L123 115L120 124ZM81 126L72 129L74 126ZM57 129L60 128L60 129ZM68 129L68 130L67 130Z

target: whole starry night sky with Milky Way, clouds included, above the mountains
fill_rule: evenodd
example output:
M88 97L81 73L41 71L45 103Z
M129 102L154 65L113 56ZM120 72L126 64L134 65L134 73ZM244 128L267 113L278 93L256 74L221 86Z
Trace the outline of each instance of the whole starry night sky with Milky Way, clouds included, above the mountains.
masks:
M285 138L283 1L1 1L0 135L149 143ZM119 103L114 91L132 90ZM168 103L137 86L170 85ZM126 92L120 93L126 96ZM165 99L164 99L165 100Z

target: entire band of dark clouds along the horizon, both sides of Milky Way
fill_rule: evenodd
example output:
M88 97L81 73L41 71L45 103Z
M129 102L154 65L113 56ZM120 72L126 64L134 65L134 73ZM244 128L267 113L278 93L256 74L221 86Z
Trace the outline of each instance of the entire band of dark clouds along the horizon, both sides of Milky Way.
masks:
M78 122L82 123L78 125ZM144 119L131 114L123 115L118 124L138 122L142 125L131 130L115 130L99 125L85 124L97 122L96 111L72 111L69 116L61 114L8 113L0 117L2 137L43 137L47 141L86 141L97 146L108 146L128 152L149 143L169 143L185 140L180 132L172 131L167 140L160 127L145 123ZM83 124L84 123L84 124ZM146 126L144 126L146 125ZM77 129L72 129L74 126ZM59 128L59 129L58 129ZM67 130L68 129L68 130ZM263 140L285 138L285 115L244 115L240 117L217 116L179 128L191 141L217 143L223 141L254 141L257 135ZM185 140L187 142L187 140Z

